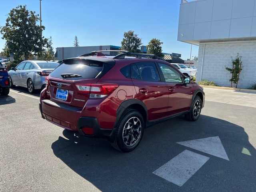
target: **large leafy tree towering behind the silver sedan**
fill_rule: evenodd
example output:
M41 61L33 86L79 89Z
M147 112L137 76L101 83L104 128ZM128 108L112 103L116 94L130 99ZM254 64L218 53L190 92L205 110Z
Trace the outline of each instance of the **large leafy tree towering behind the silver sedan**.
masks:
M38 14L29 11L25 6L17 6L10 10L6 19L6 25L0 29L6 40L6 46L14 53L14 59L19 60L22 56L28 59L30 54L38 54L44 50L48 39L42 36L44 26L40 28L36 24L40 20Z

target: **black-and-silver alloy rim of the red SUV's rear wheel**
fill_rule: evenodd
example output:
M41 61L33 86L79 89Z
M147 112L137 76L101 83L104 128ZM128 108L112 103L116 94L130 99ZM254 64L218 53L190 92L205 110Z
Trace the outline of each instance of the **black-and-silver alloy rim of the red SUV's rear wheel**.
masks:
M137 117L130 118L123 129L123 141L126 146L134 146L141 137L141 122Z

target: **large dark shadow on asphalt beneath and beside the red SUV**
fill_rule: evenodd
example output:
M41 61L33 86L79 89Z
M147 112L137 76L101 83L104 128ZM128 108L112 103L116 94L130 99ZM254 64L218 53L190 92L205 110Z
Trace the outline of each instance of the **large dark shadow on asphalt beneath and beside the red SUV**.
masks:
M107 140L77 138L63 131L52 143L54 154L101 191L255 191L256 151L244 128L202 115L197 122L174 118L147 128L134 151L121 153ZM224 160L176 142L219 136L228 155ZM243 154L246 148L250 154ZM152 172L184 150L210 157L182 187Z

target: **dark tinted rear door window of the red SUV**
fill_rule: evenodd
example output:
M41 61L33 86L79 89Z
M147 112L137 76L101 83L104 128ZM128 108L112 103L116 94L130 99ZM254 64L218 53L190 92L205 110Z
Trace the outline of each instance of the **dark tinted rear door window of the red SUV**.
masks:
M140 62L136 64L143 81L160 82L160 76L154 62Z

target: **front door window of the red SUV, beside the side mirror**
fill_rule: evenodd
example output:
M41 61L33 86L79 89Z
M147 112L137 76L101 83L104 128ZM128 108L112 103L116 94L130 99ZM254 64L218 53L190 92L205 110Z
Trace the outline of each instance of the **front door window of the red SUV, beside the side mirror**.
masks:
M171 66L166 64L158 63L166 82L170 83L182 83L182 78L180 74L174 70Z

